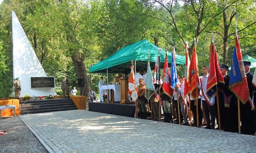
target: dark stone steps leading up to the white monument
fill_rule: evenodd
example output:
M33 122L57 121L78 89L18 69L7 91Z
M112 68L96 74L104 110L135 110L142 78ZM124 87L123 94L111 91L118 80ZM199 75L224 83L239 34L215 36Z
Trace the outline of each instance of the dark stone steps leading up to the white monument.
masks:
M72 99L48 99L20 101L20 114L78 109Z

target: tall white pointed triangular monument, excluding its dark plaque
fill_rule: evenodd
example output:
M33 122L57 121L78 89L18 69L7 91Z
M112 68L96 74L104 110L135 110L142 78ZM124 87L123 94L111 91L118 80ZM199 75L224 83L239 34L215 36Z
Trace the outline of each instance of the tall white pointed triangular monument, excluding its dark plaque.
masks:
M13 79L21 83L20 97L24 95L56 95L54 88L31 88L31 77L47 77L34 49L16 16L12 11Z

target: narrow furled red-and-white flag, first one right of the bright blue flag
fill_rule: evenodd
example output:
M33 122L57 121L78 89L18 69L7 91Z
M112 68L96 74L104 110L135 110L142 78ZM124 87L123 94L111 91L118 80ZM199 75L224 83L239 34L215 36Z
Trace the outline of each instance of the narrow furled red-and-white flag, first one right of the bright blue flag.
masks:
M186 44L185 46L185 50L186 50L186 60L185 60L185 81L184 81L184 97L186 97L188 95L188 93L190 92L190 87L188 86L188 78L189 78L189 64L190 64L190 59L188 56L188 45Z

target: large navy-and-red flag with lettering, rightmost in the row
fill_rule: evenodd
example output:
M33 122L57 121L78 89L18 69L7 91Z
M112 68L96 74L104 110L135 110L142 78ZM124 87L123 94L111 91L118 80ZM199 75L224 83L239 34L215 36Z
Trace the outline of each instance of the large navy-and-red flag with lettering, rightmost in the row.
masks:
M236 34L236 46L233 52L233 62L230 72L229 89L241 100L243 104L249 99L249 88L244 70L243 57Z

